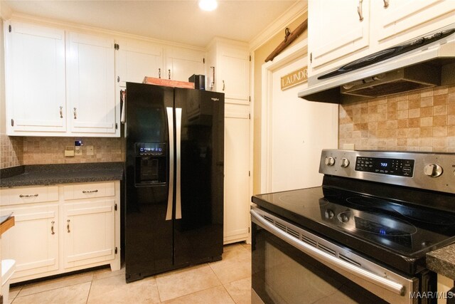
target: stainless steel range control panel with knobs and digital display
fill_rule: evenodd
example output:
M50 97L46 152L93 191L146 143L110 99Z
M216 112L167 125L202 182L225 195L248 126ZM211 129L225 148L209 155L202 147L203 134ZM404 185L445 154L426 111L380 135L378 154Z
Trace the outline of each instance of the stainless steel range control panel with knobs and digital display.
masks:
M319 173L455 193L455 153L322 150Z

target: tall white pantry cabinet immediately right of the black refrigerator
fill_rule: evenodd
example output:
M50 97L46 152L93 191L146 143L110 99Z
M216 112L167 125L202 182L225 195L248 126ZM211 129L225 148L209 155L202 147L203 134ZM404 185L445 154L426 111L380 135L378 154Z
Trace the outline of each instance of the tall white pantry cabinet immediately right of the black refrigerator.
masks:
M250 53L247 43L208 46L206 90L225 93L224 243L250 236Z

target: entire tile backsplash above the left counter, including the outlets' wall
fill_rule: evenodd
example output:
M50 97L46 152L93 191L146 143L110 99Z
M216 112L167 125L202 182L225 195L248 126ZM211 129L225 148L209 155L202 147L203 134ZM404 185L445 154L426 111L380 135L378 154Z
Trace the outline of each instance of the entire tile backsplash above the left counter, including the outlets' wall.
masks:
M122 138L112 137L1 137L0 169L21 164L73 164L78 162L123 162ZM65 157L65 146L82 140L82 155ZM87 155L87 146L94 154Z

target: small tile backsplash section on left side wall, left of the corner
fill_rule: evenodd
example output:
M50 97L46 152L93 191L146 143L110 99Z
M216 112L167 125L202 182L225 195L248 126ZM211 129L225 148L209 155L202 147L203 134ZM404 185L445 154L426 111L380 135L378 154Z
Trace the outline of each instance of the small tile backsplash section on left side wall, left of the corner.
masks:
M9 137L0 134L0 169L23 164L22 137Z

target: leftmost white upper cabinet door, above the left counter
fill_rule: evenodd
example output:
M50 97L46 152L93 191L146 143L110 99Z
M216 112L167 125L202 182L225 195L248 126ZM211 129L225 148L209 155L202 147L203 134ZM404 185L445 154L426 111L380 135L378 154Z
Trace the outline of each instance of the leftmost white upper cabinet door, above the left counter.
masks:
M11 21L5 32L7 134L65 132L65 31Z

